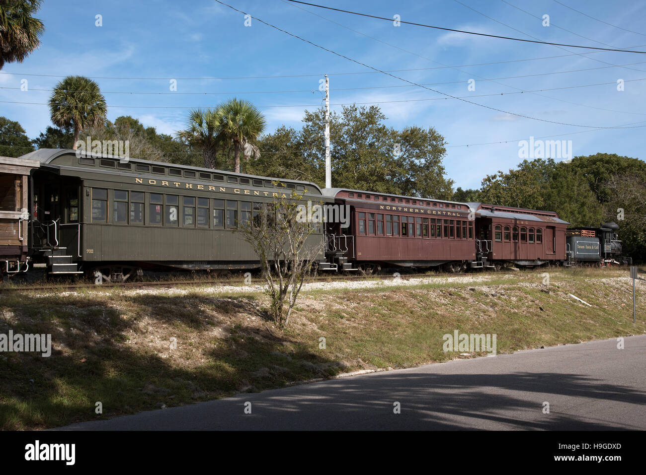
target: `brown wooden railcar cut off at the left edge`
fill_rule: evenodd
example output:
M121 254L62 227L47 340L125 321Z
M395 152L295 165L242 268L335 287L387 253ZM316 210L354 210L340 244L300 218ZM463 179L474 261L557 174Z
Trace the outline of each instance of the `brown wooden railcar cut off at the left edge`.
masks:
M0 277L28 269L28 180L40 163L0 157Z

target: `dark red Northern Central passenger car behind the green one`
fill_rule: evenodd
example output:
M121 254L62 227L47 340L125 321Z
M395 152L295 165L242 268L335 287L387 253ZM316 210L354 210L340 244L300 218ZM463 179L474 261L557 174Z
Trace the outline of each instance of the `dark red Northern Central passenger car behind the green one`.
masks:
M324 194L349 207L349 227L328 223L328 256L339 270L444 265L457 272L475 260L466 203L346 188Z

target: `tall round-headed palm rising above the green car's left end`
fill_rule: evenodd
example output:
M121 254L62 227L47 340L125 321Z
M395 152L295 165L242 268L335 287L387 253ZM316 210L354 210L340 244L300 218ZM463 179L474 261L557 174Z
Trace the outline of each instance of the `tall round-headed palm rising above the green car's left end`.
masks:
M49 99L52 122L74 130L74 146L81 130L98 127L105 122L107 106L99 85L83 76L68 76L54 87Z

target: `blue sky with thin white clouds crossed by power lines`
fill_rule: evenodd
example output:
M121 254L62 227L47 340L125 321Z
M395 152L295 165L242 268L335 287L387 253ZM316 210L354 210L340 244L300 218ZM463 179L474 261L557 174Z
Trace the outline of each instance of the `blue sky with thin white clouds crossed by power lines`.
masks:
M554 0L312 3L487 34L646 50L646 3L559 1L615 26ZM322 104L318 85L322 74L328 74L333 110L339 110L339 104L379 103L388 125L435 127L448 141L444 165L456 187L478 188L486 174L515 167L522 161L519 141L530 137L571 140L574 156L608 152L643 159L646 127L590 127L646 125L646 54L394 26L284 0L227 3L366 65L400 70L392 74L408 81L432 84L428 87L444 94L544 121L444 99L442 94L374 73L259 21L252 19L251 26L245 26L242 14L213 0L45 0L37 15L46 28L41 48L23 63L5 65L0 71L0 101L5 101L0 103L0 115L19 121L28 136L36 137L50 125L48 108L39 103L47 103L49 90L64 76L80 74L99 83L109 119L131 115L172 134L183 127L190 108L240 97L261 108L267 131L272 132L280 125L300 128L303 111ZM550 26L542 25L545 14ZM103 26L96 26L96 15L101 15ZM357 72L370 74L344 74ZM28 90L15 89L23 79ZM170 79L177 80L176 92L169 88ZM468 88L470 79L475 90ZM623 91L618 90L619 79L624 81ZM129 94L108 94L112 92ZM194 94L204 92L225 94ZM482 95L490 96L478 97ZM476 145L499 141L508 142Z

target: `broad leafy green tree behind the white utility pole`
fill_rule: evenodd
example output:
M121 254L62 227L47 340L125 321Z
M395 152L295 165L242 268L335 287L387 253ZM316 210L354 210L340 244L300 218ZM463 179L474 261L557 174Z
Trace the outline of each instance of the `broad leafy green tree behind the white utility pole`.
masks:
M280 127L262 137L253 174L325 182L325 111L306 111L302 130ZM444 138L434 128L395 130L384 125L378 106L344 106L330 114L334 187L450 199L453 181L444 177Z

